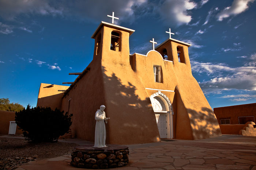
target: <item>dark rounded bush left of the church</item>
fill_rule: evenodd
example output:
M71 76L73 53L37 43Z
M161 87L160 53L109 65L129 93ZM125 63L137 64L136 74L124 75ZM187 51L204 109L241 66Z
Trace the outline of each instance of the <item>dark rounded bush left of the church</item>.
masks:
M16 124L22 129L24 137L32 142L58 141L71 126L71 115L50 107L32 107L15 113Z

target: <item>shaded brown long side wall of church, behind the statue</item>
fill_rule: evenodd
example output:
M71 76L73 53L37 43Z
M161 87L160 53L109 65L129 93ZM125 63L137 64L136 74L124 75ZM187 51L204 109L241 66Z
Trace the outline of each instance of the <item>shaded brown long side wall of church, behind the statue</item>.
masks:
M70 99L69 114L73 114L72 137L94 142L95 112L99 106L105 104L101 57L96 57L88 67L90 67L90 71L83 76L78 76L75 80L77 83L62 99L61 109L65 112L68 111L68 100ZM109 116L107 106L105 111L106 116ZM106 124L107 135L108 126L109 124ZM109 137L107 136L107 138Z

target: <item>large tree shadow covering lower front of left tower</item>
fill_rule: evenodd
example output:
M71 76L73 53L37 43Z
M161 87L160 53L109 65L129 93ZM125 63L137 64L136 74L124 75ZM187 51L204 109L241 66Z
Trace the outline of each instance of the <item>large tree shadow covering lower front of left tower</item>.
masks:
M159 142L157 122L146 90L137 89L128 78L122 82L112 73L106 75L102 66L103 83L106 90L106 116L110 117L107 129L107 143ZM126 83L124 85L123 83ZM137 87L142 86L135 82ZM142 90L142 91L140 91ZM139 95L145 96L144 100Z

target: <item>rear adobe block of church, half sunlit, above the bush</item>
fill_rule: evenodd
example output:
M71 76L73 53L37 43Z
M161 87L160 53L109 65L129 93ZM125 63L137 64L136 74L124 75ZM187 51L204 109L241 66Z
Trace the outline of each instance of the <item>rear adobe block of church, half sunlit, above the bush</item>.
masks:
M68 87L69 86L41 83L38 93L37 106L51 107L52 110L55 110L56 107L60 109L63 92L58 90L67 90Z

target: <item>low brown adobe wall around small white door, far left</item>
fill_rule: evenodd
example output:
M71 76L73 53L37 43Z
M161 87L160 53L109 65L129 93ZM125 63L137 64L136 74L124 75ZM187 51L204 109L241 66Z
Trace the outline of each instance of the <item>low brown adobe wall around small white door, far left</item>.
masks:
M15 121L15 111L0 110L0 118L0 134L8 134L10 121ZM19 126L16 128L15 134L22 134L22 130L19 130Z

